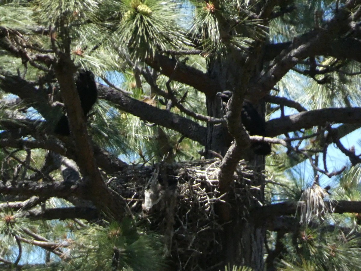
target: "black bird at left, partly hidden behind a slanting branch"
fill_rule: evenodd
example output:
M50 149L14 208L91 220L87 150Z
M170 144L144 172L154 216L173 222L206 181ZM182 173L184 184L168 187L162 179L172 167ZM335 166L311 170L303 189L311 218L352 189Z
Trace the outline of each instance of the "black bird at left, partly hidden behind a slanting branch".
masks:
M81 70L79 72L75 85L77 86L77 91L84 116L86 116L92 108L93 104L95 104L97 98L94 74L89 70ZM69 121L68 117L66 117L65 114L58 121L57 125L55 126L54 132L60 136L69 136Z

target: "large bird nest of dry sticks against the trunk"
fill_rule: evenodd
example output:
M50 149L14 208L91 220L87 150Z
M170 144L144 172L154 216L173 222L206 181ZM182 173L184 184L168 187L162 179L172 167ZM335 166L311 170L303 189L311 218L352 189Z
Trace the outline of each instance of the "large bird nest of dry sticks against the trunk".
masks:
M178 263L178 270L201 270L200 262L205 264L207 255L219 249L217 235L222 225L214 208L224 197L217 190L220 163L213 159L133 166L108 182L126 202L131 216L164 236L164 253ZM234 181L249 183L253 175L240 162ZM232 190L244 198L238 192Z

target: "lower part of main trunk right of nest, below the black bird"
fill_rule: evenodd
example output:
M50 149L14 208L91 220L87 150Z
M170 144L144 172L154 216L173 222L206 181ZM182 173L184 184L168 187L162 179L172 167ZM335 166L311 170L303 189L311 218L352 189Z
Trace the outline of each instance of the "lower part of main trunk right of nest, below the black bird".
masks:
M234 185L229 194L230 221L223 223L223 232L220 235L221 251L218 259L223 261L223 266L230 264L237 266L250 266L253 270L264 270L264 241L265 226L257 221L249 213L253 207L260 206L264 202L264 176L259 174L264 169L264 157L258 156L248 162L255 174L251 183L244 179ZM251 189L251 186L259 189ZM217 206L216 212L223 210Z

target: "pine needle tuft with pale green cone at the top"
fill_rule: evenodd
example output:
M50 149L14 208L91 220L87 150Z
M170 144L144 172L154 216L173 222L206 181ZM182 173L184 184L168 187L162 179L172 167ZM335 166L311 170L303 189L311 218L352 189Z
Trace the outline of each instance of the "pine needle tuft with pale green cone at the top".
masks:
M181 48L187 38L170 25L181 20L177 5L171 1L126 0L121 1L122 14L118 29L114 33L114 45L121 53L128 51L132 58L147 59L156 50ZM178 12L177 12L178 11ZM119 39L119 37L121 37Z

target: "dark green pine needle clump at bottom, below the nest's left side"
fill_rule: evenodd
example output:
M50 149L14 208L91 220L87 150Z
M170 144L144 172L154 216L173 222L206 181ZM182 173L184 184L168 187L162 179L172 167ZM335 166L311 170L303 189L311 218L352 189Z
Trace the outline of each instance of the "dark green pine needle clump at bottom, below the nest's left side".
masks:
M88 230L87 242L93 248L81 261L74 262L73 267L77 267L72 270L141 271L160 270L164 266L159 236L138 232L129 219L98 227L96 232Z

